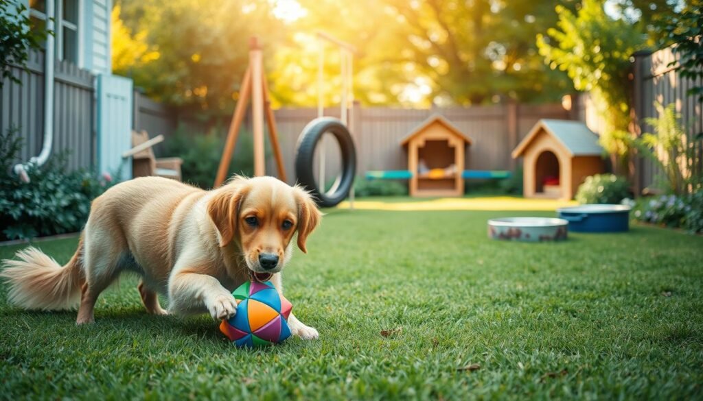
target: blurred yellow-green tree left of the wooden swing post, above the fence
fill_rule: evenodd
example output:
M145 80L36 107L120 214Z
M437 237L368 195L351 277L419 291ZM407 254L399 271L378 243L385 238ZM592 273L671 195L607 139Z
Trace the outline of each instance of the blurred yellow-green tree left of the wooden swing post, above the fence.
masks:
M250 37L260 37L269 52L283 37L280 21L264 1L119 0L116 5L124 25L117 20L115 73L134 79L155 100L200 114L233 109Z

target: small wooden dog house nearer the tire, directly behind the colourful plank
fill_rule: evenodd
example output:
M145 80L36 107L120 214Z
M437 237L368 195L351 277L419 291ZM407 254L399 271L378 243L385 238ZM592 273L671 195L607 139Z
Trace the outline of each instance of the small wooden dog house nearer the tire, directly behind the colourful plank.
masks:
M464 194L464 150L471 145L444 117L425 120L401 141L408 149L413 197L461 196Z

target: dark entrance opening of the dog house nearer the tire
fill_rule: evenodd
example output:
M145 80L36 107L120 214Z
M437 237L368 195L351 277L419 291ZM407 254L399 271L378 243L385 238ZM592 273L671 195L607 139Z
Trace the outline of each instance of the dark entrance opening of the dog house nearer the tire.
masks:
M425 140L425 146L418 148L418 190L455 188L455 152L448 140Z

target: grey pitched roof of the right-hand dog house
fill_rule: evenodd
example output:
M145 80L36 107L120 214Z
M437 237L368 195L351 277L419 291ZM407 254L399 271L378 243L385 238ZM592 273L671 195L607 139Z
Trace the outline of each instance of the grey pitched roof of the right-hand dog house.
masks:
M541 119L512 151L512 158L520 157L541 130L561 143L572 156L598 156L603 152L603 148L598 145L598 136L586 124L580 121Z

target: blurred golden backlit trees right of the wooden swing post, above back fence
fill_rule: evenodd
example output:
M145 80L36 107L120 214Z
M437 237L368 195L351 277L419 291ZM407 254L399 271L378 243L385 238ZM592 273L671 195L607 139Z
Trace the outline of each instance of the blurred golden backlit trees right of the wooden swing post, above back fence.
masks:
M514 98L559 99L572 90L563 72L549 70L534 36L556 21L553 1L299 0L307 15L292 23L294 50L280 50L274 79L282 103L314 104L321 29L359 48L357 98L370 104L480 104ZM562 0L573 7L575 0ZM335 18L330 18L333 15ZM334 100L339 60L327 53L325 98ZM280 65L280 64L279 64ZM290 87L288 87L290 85Z

